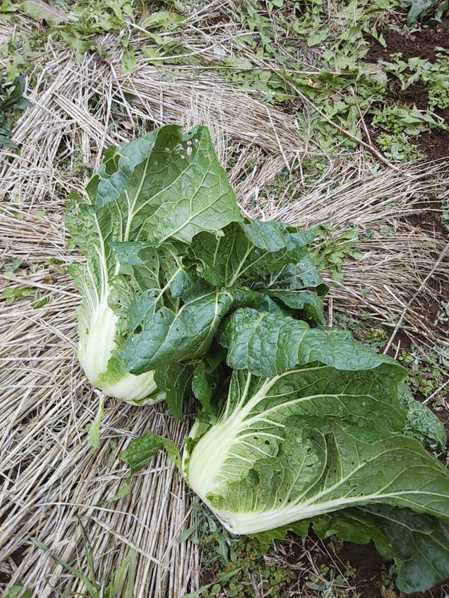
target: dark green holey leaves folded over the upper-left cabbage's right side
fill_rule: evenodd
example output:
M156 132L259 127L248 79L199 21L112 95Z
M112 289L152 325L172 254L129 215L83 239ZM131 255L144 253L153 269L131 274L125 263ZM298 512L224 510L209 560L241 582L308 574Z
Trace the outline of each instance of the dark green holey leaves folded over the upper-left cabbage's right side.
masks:
M261 224L266 235L263 246L258 236ZM310 239L310 233L279 222L245 219L225 226L220 234L199 233L190 244L113 243L123 287L116 293L121 306L114 302L114 311L123 311L128 327L121 348L126 369L135 375L154 370L156 383L177 416L190 388L203 406L210 407L218 374L223 373L210 366L217 350L211 344L229 313L251 306L255 312L309 313L324 321L323 297L318 294L323 283L307 256ZM289 285L295 287L295 308L290 301L270 296ZM206 365L198 360L203 358L208 365L200 383L198 371Z

